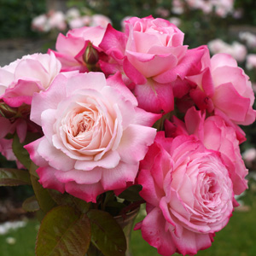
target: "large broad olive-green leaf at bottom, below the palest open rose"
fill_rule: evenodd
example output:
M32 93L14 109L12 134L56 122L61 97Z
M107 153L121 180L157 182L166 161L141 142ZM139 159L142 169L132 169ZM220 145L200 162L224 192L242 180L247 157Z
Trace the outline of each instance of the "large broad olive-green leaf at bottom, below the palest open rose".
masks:
M90 221L72 207L52 209L38 231L37 256L84 256L90 245Z

